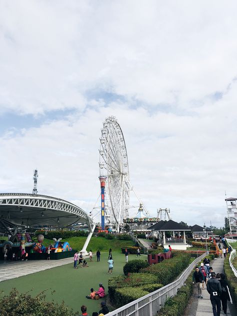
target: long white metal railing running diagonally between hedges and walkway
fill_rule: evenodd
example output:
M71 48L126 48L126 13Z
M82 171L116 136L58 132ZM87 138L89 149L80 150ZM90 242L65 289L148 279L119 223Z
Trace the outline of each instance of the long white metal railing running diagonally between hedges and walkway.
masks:
M193 265L198 263L200 259L204 258L206 254L207 253L205 252L192 261L192 263L188 265L188 267L175 281L109 312L107 316L155 316L164 305L165 300L168 297L175 295L177 293L177 289L184 284L193 269Z

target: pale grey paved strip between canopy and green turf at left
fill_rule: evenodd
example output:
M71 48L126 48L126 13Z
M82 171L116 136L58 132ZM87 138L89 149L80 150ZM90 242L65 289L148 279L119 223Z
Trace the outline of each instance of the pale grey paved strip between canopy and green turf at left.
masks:
M0 264L0 281L51 269L63 264L73 264L73 257L60 260L6 261Z

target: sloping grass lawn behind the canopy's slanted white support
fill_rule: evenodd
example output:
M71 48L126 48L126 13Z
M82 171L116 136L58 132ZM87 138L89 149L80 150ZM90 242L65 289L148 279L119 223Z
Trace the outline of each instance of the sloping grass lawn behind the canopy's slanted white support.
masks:
M86 237L70 237L62 239L61 241L68 241L72 249L81 250L85 239ZM54 243L54 241L44 238L43 244L47 246L49 243ZM92 252L96 252L97 249L100 249L100 251L108 251L109 248L112 248L113 251L121 251L121 247L132 245L134 245L134 242L132 240L106 239L104 237L92 236L87 246L87 251L89 249L91 249Z

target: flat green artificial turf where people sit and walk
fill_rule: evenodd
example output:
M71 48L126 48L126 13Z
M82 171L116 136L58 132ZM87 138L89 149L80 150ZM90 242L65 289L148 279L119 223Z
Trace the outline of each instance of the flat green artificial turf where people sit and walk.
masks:
M89 295L90 287L98 289L98 284L101 282L105 288L105 294L108 289L108 278L123 274L123 265L125 264L125 256L119 252L112 252L114 260L114 268L112 275L107 274L108 253L101 252L100 262L96 262L96 257L93 261L87 263L89 267L81 268L78 265L77 269L73 268L73 258L71 264L65 264L54 267L48 270L28 274L18 278L0 282L0 289L8 294L12 287L16 287L19 292L26 292L31 290L31 295L35 296L39 292L48 289L45 292L46 300L54 300L61 302L64 300L65 304L73 308L75 311L80 310L81 305L87 306L89 315L93 311L98 311L100 308L100 300L91 300L85 298ZM135 254L129 254L129 260L136 259ZM147 256L141 255L142 260L147 259ZM25 262L27 268L27 262ZM36 264L36 262L35 262ZM52 295L51 290L55 290Z

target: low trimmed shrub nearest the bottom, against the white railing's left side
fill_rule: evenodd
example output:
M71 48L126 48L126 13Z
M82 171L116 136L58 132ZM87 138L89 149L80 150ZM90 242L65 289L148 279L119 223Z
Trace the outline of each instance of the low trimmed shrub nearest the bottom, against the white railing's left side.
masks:
M125 305L141 296L148 294L139 287L122 287L117 288L114 293L114 302L119 302L119 306Z

